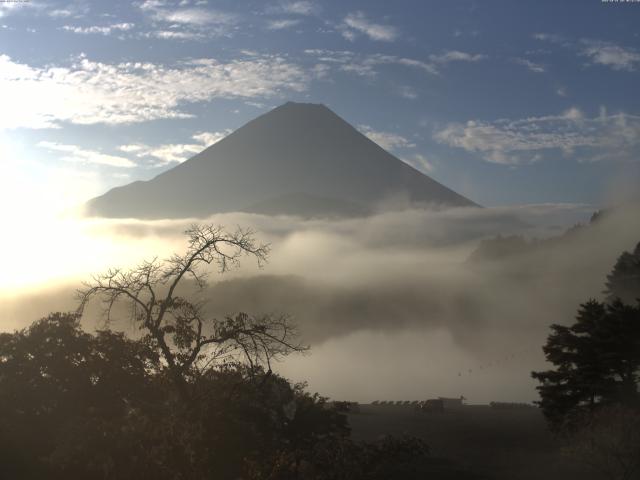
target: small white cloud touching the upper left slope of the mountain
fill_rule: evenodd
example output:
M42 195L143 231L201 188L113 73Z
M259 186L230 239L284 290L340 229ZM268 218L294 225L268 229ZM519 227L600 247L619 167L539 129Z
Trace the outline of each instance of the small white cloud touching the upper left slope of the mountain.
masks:
M206 147L219 142L229 135L231 130L221 132L200 132L191 138L197 143L171 143L158 146L149 146L143 143L120 145L118 150L131 153L138 158L153 157L160 162L154 166L162 166L168 163L182 163L193 155L200 153Z

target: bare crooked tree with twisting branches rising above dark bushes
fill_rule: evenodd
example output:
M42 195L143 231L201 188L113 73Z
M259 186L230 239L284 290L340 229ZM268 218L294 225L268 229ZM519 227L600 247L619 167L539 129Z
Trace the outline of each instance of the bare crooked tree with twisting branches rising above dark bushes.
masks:
M219 273L237 267L242 256L254 257L258 265L267 258L269 246L256 243L253 231L238 228L192 225L185 234L183 255L154 258L130 270L110 269L85 282L78 290L82 313L94 297L102 300L107 322L115 306L124 302L129 318L158 348L179 394L189 400L189 379L229 359L246 361L253 370L307 347L296 342L296 332L285 316L253 317L246 313L224 319L210 318L204 303L178 295L183 283L192 280L198 292L206 287L207 267Z

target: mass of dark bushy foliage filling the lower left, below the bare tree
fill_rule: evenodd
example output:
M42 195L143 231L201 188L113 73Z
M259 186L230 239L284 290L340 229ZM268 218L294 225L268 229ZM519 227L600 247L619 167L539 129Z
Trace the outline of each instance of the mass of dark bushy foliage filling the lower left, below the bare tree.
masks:
M255 366L190 376L157 346L52 314L0 336L0 465L20 479L422 478L426 446L349 437L340 404Z

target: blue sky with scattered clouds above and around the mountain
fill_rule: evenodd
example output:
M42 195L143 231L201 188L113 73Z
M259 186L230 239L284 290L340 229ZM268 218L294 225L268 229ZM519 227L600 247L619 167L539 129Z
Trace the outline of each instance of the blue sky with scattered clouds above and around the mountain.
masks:
M66 204L288 100L484 205L640 181L640 2L0 2L0 175Z

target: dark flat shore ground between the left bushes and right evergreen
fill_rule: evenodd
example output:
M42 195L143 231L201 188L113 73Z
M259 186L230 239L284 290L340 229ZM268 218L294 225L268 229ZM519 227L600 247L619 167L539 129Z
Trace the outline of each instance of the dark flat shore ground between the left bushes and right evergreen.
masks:
M498 410L478 405L423 413L413 406L361 405L359 413L349 415L349 422L359 440L372 441L382 435L422 438L433 457L447 459L443 471L459 472L441 478L598 478L560 453L561 442L549 433L535 408Z

